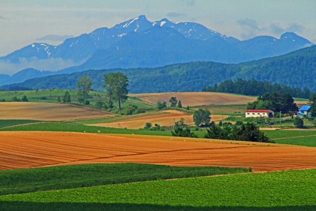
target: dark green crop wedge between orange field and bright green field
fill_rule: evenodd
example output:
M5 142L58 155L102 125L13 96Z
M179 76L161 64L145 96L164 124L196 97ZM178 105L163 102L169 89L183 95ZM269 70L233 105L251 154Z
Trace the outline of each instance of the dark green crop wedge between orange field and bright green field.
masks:
M251 172L251 169L171 167L136 163L82 164L1 170L0 195L244 172Z

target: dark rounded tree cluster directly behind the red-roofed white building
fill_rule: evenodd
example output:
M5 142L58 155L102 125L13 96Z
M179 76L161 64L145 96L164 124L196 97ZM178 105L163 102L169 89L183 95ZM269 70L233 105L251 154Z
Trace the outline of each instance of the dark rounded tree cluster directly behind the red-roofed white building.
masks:
M248 102L246 109L269 109L285 114L296 113L298 107L288 92L281 93L277 91L271 94L265 93L262 96L260 95L256 101Z

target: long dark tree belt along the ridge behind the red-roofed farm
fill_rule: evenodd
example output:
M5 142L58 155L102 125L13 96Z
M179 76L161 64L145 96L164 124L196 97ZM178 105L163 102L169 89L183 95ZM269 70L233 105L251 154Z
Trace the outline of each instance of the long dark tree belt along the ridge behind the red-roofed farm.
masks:
M226 92L226 93L236 93L244 95L263 95L264 93L273 93L276 91L288 92L293 97L309 98L313 92L311 92L307 87L293 88L287 85L281 85L271 82L262 82L252 80L242 80L238 78L237 80L225 80L219 85L214 84L213 87L204 85L202 91L211 92Z

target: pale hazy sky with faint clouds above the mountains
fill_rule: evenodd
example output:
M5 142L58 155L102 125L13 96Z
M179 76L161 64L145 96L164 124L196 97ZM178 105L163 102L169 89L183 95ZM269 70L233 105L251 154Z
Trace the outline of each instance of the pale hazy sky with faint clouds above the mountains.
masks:
M149 21L197 22L240 40L294 32L316 43L316 0L0 0L0 56L142 14Z

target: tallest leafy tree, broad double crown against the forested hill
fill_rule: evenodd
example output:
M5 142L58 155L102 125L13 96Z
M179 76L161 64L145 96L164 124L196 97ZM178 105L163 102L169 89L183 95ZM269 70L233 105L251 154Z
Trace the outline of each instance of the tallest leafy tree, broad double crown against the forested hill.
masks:
M109 73L104 75L103 87L106 88L109 95L109 105L111 100L114 99L118 102L118 108L120 104L125 102L128 98L128 78L123 73Z

